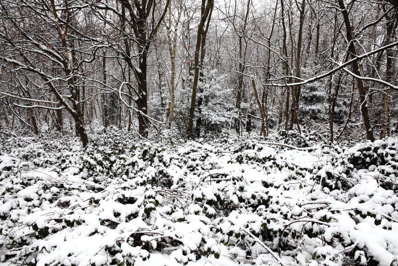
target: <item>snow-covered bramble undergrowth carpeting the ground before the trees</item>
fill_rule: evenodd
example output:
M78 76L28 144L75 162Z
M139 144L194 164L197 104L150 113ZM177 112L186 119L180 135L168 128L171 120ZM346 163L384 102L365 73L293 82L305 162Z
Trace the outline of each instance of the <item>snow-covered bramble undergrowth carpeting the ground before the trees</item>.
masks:
M0 133L0 264L398 265L398 138Z

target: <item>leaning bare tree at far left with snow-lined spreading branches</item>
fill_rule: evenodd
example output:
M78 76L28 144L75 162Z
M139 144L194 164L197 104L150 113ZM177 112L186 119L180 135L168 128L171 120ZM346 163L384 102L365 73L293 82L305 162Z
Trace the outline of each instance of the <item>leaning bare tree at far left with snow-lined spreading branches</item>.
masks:
M59 3L51 0L50 5L45 1L2 0L0 5L4 17L1 20L0 41L7 46L6 52L1 54L3 62L6 63L4 67L20 73L32 86L46 88L55 97L54 101L48 101L40 99L41 96L35 98L33 95L26 95L28 101L37 104L23 107L66 109L75 122L83 146L87 146L89 139L81 109L83 102L80 99L79 86L76 84L79 79L78 68L85 60L77 62L74 40L72 37L68 38L73 36L70 34L71 22L74 19L71 14L76 15L78 10L76 7L70 7L67 0ZM26 13L32 16L26 16ZM24 20L24 23L20 23L20 20ZM34 24L40 25L40 28L33 26ZM38 33L38 30L41 32ZM38 67L39 62L42 62L43 67ZM53 62L56 67L47 66L47 62ZM56 73L55 69L62 70L63 74ZM42 85L35 84L28 75L41 80ZM21 84L23 83L19 85ZM24 95L15 91L8 96L24 98ZM30 114L32 117L32 111Z

